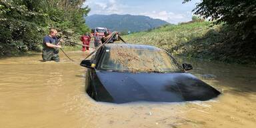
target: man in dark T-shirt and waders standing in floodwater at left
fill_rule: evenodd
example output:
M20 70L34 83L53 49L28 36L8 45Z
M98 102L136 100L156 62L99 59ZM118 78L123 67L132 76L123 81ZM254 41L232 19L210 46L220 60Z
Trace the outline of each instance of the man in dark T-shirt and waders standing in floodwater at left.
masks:
M58 43L56 37L57 30L51 29L49 35L43 37L43 61L56 61L59 62L59 48L61 45Z

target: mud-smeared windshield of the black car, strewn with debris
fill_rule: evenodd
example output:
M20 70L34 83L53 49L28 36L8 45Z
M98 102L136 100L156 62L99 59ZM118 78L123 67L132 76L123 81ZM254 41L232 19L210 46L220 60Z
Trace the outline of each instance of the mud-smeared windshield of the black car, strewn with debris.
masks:
M175 59L165 51L148 49L106 49L100 68L131 72L183 72Z

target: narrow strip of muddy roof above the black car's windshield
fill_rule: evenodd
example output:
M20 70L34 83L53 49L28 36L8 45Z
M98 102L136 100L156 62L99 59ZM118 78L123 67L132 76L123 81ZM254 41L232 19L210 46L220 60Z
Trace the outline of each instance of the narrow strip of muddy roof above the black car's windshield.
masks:
M105 47L109 49L117 49L117 48L127 48L127 49L147 49L152 51L161 51L158 47L153 47L150 45L135 45L131 43L108 43Z

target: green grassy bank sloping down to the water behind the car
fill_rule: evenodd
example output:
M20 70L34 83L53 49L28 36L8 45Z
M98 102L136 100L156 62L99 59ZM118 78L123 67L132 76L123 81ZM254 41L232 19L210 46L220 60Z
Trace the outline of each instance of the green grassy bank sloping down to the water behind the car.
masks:
M235 40L230 27L211 25L207 21L165 25L123 38L130 43L154 45L173 55L185 57L227 63L255 63L256 60L253 48L244 43L242 46L240 40Z

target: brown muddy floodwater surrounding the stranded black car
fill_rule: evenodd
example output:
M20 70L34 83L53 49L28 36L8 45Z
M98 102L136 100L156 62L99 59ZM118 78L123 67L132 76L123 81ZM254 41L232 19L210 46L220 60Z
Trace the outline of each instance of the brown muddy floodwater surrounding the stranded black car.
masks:
M96 102L85 93L86 56L69 52L61 62L41 55L0 59L0 127L256 127L256 69L187 60L190 71L221 93L183 103Z

